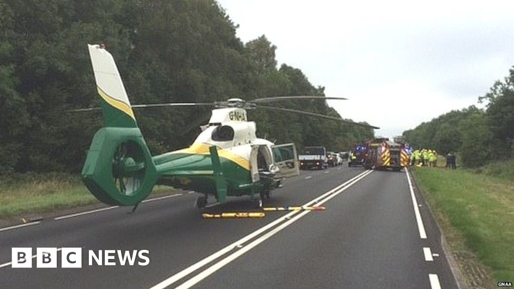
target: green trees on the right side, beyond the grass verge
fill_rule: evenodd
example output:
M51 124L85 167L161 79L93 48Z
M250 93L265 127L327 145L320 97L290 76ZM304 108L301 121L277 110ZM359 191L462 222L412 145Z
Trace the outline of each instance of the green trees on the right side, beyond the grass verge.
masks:
M479 167L514 156L514 67L497 81L480 102L485 110L470 106L451 111L403 132L414 147L438 152L458 152L464 165Z

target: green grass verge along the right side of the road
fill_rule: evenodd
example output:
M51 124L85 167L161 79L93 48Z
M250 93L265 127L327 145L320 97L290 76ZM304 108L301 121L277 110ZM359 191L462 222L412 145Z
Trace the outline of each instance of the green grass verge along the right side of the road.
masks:
M493 280L486 287L512 282L514 182L469 170L414 168L412 172L452 250L470 251L490 270Z

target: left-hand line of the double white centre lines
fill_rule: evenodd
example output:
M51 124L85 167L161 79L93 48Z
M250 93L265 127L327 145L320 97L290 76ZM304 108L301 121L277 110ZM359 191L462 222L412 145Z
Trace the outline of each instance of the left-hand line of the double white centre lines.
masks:
M359 177L361 177L361 176L363 176L363 175L367 175L367 174L369 174L370 172L372 172L372 171L365 171L365 172L362 172L361 174L359 174L359 175L357 175L357 176L355 176L355 177L351 178L350 180L347 180L345 183L343 183L343 184L341 184L341 185L337 186L336 188L334 188L334 189L332 189L332 190L330 190L330 191L328 191L328 192L326 192L326 193L324 193L324 194L322 194L322 195L318 196L318 197L317 197L317 198L315 198L314 200L312 200L312 201L310 201L310 202L306 203L304 206L310 206L310 205L312 205L312 204L314 204L314 203L318 202L318 200L321 200L322 198L326 197L327 195L332 194L332 193L334 193L334 192L338 191L339 189L341 189L341 188L345 187L347 184L352 183L355 179L357 179L357 178L359 178ZM292 215L295 215L295 214L297 214L297 213L299 213L299 212L300 212L300 211L292 211L292 212L290 212L290 213L288 213L288 214L286 214L286 215L282 216L281 218L279 218L279 219L277 219L277 220L275 220L275 221L273 221L273 222L271 222L271 223L269 223L269 224L267 224L267 225L265 225L265 226L261 227L260 229L258 229L258 230L256 230L256 231L254 231L254 232L252 232L252 233L250 233L250 234L248 234L247 236L243 237L242 239L237 240L237 241L235 241L234 243L232 243L232 244L230 244L230 245L226 246L225 248L223 248L223 249L221 249L221 250L219 250L219 251L215 252L214 254L210 255L209 257L207 257L207 258L205 258L205 259L203 259L203 260L198 261L197 263L195 263L195 264L193 264L193 265L191 265L191 266L187 267L186 269L183 269L181 272L179 272L179 273L177 273L177 274L175 274L175 275L173 275L173 276L169 277L168 279L165 279L165 280L161 281L160 283L158 283L158 284L156 284L156 285L152 286L152 287L151 287L151 289L162 289L162 288L166 288L166 287L168 287L168 286L172 285L173 283L177 282L178 280L180 280L180 279L182 279L182 278L186 277L187 275L189 275L189 274L193 273L193 272L194 272L194 271L196 271L197 269L199 269L199 268L201 268L201 267L204 267L204 266L205 266L205 265L207 265L208 263L210 263L210 262L212 262L212 261L214 261L214 260L218 259L219 257L221 257L221 256L223 256L223 255L225 255L225 254L227 254L227 252L229 252L230 250L232 250L232 249L234 249L234 248L240 248L240 247L242 246L242 244L244 244L244 243L248 242L249 240L253 239L253 238L254 238L254 237L256 237L256 236L259 236L259 234L261 234L261 233L263 233L263 232L267 231L268 229L270 229L270 228L272 228L272 227L276 226L277 224L280 224L280 223L281 223L281 222L283 222L283 221L289 220L289 219L291 218L291 216L292 216ZM303 211L302 213L305 213L305 212L310 212L310 211ZM290 219L290 220L296 220L296 219ZM285 224L285 223L284 223L284 224ZM278 227L277 227L277 228L278 228ZM277 229L277 228L276 228L276 229ZM269 232L268 232L268 234L269 234ZM264 235L264 236L266 236L266 235ZM261 237L261 238L262 238L262 237ZM268 237L268 238L269 238L269 237ZM266 239L267 239L267 238L266 238ZM263 241L264 241L264 240L263 240ZM255 242L255 241L254 241L254 242ZM253 243L253 242L252 242L252 243ZM250 243L250 244L252 244L252 243ZM241 251L241 250L243 250L243 249L245 249L245 247L241 248L241 249L240 249L240 250L238 250L238 251ZM235 254L235 253L234 253L234 254ZM230 256L232 256L232 255L230 255ZM226 258L230 258L230 256L229 256L229 257L226 257ZM223 259L223 260L225 260L225 259ZM220 261L220 262L223 262L223 260L222 260L222 261ZM205 277L204 277L204 278L205 278Z

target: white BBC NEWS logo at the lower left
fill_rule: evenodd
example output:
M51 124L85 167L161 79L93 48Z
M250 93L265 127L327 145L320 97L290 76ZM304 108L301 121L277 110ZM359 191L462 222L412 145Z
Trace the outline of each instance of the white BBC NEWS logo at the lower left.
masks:
M57 248L36 248L36 268L57 268ZM88 250L88 265L116 266L150 264L148 250ZM12 268L32 268L32 248L12 248ZM82 248L62 248L61 268L82 268ZM117 262L118 261L118 262ZM137 261L137 262L136 262Z

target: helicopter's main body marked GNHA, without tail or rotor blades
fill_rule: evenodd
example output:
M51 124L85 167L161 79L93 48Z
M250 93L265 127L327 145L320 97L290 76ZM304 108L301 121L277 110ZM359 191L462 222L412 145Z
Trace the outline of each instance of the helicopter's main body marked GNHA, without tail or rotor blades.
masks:
M273 155L274 144L257 138L255 123L246 121L246 111L237 108L213 110L209 126L189 148L153 157L160 175L157 184L212 194L219 201L212 166L215 160L209 151L212 146L218 148L228 196L253 197L280 185L284 172L275 159L280 151ZM289 167L294 168L296 158L289 160Z

